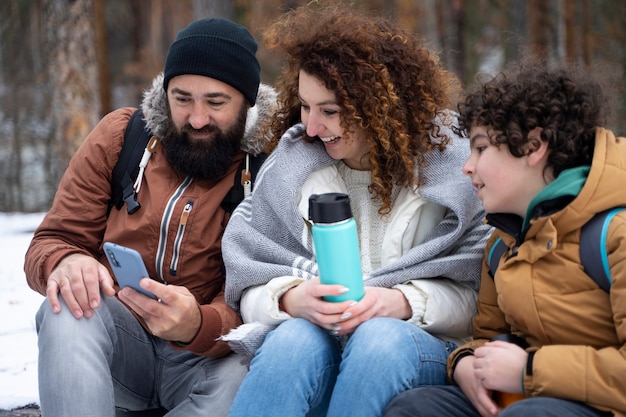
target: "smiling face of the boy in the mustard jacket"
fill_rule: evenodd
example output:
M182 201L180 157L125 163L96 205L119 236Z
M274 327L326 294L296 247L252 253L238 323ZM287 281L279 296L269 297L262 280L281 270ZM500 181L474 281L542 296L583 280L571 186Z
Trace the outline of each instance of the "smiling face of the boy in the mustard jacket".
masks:
M517 158L507 146L492 145L488 132L486 126L471 128L471 153L463 173L472 179L485 211L524 217L537 193L535 170L527 163L527 157Z

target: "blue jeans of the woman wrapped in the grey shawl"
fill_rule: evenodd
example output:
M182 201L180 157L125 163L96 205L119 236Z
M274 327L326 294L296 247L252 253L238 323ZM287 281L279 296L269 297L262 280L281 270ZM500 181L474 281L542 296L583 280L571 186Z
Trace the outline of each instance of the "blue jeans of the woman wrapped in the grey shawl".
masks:
M444 384L456 348L402 320L362 323L339 338L304 319L270 332L250 365L231 417L379 417L399 393Z

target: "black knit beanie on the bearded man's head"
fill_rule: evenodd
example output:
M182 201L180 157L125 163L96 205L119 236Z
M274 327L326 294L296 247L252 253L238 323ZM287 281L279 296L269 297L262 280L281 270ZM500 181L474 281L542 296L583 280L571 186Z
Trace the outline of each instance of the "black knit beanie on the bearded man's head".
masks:
M196 20L178 32L167 52L163 88L177 75L204 75L236 88L254 105L261 78L256 50L245 27L221 18Z

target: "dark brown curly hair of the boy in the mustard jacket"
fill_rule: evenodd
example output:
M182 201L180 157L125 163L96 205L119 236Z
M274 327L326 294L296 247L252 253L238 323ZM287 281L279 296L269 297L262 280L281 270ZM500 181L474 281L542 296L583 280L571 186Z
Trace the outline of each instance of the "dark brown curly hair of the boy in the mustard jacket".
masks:
M479 85L459 104L459 127L485 126L493 145L504 144L516 157L529 151L528 133L542 128L548 166L562 171L591 165L596 127L606 122L601 85L575 69L524 64Z

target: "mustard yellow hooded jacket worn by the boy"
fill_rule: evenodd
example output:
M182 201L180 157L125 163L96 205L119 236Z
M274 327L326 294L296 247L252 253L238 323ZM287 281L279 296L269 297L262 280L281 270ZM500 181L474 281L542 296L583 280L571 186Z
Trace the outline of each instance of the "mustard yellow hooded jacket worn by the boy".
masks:
M513 333L530 344L526 395L626 416L626 211L608 229L609 293L584 273L579 255L581 226L598 212L626 207L626 138L597 130L591 169L572 198L530 217L526 230L512 231L517 236L499 229L491 237L486 253L502 237L517 254L503 257L495 278L485 257L474 340L452 353L449 376L461 354Z

